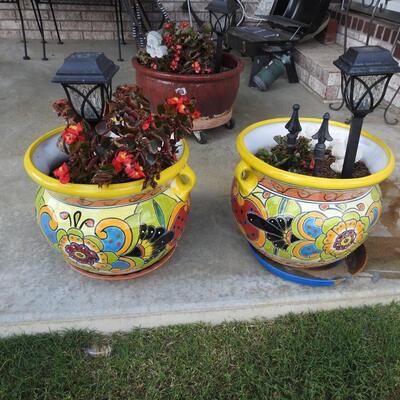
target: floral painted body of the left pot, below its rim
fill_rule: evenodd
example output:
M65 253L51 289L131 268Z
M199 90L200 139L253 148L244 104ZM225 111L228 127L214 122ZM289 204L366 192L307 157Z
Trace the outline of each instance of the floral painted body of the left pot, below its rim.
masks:
M42 233L68 264L103 275L138 272L162 259L182 235L190 206L159 190L129 205L125 214L118 207L115 214L122 218L104 218L101 208L94 212L59 204L38 191L36 216Z

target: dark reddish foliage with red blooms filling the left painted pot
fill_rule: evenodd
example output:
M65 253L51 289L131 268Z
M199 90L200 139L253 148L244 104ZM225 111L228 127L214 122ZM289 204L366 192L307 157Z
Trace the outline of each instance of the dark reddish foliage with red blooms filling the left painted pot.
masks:
M180 140L192 132L200 113L186 96L167 99L152 113L135 85L119 86L105 117L93 126L74 113L66 99L53 105L67 121L61 147L68 159L53 171L61 183L98 184L143 179L156 186L160 172L174 164Z

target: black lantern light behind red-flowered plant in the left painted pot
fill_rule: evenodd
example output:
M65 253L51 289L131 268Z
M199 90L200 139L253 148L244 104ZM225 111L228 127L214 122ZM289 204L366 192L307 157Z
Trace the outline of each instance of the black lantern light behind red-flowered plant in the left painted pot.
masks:
M104 53L73 53L64 60L52 82L61 83L74 111L89 123L104 115L111 98L111 81L119 66Z

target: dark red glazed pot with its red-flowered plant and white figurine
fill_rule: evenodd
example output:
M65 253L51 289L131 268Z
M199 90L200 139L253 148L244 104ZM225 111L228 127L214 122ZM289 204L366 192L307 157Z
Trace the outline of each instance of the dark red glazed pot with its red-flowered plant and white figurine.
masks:
M153 108L177 90L196 100L201 118L194 122L195 131L224 124L233 128L233 104L243 70L240 59L217 52L211 35L209 24L196 31L188 22L168 22L161 32L149 32L146 49L132 59L136 82Z

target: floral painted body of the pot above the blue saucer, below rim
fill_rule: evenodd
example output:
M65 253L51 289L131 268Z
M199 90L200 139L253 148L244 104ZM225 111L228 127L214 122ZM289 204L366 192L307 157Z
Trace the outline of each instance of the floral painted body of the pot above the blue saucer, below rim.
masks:
M286 196L283 190L272 190L264 181L244 196L234 180L232 206L237 222L257 250L294 267L318 267L347 257L366 240L382 213L378 187L344 195L340 192L340 201L331 198L336 192L326 192L326 196L321 192L321 196L330 196L330 200L323 196L310 201L306 195L302 200L301 195ZM300 189L296 190L300 193ZM256 212L251 211L254 204L260 204ZM244 224L243 218L250 227ZM254 229L265 235L263 243L252 240Z

